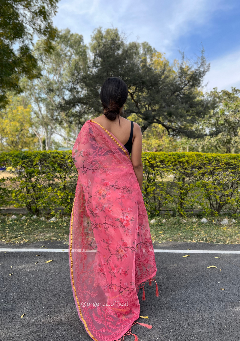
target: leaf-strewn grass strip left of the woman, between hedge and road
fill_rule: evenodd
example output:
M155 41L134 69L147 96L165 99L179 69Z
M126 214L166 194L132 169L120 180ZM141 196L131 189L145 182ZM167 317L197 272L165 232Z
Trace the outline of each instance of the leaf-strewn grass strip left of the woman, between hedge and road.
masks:
M11 220L11 215L4 215L0 219L0 240L5 243L31 243L41 240L61 240L68 243L70 217L57 218L55 222L33 219L32 215L25 215L26 219ZM49 217L48 219L50 219Z

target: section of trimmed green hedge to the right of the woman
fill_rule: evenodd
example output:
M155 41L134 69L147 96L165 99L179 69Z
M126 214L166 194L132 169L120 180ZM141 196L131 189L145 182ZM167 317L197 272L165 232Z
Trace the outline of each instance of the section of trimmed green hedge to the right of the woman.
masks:
M240 206L240 155L204 153L143 153L143 192L148 212L166 203L184 215L202 207L217 215Z

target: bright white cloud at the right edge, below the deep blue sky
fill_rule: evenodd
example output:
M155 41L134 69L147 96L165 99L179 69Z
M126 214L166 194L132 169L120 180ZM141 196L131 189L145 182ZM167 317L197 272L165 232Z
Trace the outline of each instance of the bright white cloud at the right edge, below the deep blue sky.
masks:
M205 76L207 90L217 87L218 90L240 88L240 50L222 56L211 62L211 69Z

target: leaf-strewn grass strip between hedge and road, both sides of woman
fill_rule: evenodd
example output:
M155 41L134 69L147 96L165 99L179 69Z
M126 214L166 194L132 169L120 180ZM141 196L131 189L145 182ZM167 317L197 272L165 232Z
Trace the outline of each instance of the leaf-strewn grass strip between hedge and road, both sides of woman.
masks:
M8 243L31 243L34 241L58 240L68 244L70 217L59 217L55 222L42 221L40 218L33 219L32 215L26 215L21 220L22 214L17 219L11 220L11 215L0 217L0 239ZM51 217L48 217L48 219ZM150 225L152 241L192 241L222 244L240 244L240 217L231 222L228 218L228 225L221 225L221 217L207 218L208 223L200 222L198 217L155 217L156 222ZM152 218L151 218L152 219ZM149 219L149 220L151 220ZM163 222L163 220L165 221ZM195 220L195 221L193 221Z

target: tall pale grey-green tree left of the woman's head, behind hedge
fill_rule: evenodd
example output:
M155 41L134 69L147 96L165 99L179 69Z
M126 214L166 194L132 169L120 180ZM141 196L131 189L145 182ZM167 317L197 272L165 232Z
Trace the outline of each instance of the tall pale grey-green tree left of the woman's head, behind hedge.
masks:
M39 139L40 148L51 149L52 136L61 136L65 144L74 145L77 135L89 115L85 105L80 105L72 114L73 108L64 110L61 107L68 98L69 88L76 83L76 77L87 72L88 57L82 35L73 34L70 30L57 32L53 42L53 51L46 52L42 41L35 45L34 57L38 60L41 76L31 81L24 81L26 96L31 99L34 132ZM79 94L82 87L76 89Z

